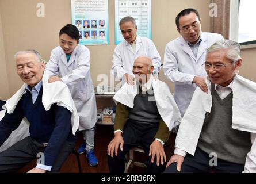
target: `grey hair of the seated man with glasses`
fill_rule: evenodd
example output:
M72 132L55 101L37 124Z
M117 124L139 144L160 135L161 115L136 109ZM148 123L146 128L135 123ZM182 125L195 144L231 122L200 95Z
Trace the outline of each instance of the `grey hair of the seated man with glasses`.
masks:
M232 60L233 62L238 62L241 59L241 51L240 51L240 44L236 41L232 40L219 40L216 41L211 47L207 49L208 53L217 52L222 49L226 49L226 57L227 59Z

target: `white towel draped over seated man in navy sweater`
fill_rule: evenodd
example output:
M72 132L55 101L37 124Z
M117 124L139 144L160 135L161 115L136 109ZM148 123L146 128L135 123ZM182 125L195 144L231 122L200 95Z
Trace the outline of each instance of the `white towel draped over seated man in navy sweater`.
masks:
M45 110L49 110L52 104L57 104L59 106L63 106L67 108L71 112L71 125L72 125L72 133L75 135L79 126L79 116L77 113L77 109L75 108L74 101L71 97L70 91L67 85L63 82L56 81L53 83L48 83L48 76L43 76L43 96L42 102ZM10 98L6 101L6 104L2 106L3 109L7 110L7 113L12 114L18 101L20 101L22 95L26 90L26 83L22 85L22 87ZM3 112L4 111L4 112ZM4 116L5 110L2 111L2 117ZM2 119L0 118L0 120ZM18 141L24 139L29 135L29 122L24 118L20 124L20 126L12 132L9 138L5 141L5 143L1 146L0 152L6 150L11 145L17 143ZM16 136L18 135L18 136Z

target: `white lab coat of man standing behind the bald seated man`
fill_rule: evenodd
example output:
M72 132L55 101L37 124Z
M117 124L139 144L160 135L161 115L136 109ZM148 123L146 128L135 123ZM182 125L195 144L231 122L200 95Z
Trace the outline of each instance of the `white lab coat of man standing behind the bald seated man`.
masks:
M146 37L137 35L135 52L133 51L132 46L125 40L114 49L113 66L111 68L112 74L117 76L118 79L123 79L125 73L132 75L134 60L139 56L150 57L154 65L154 74L159 73L161 57L154 43ZM124 79L123 83L125 83Z

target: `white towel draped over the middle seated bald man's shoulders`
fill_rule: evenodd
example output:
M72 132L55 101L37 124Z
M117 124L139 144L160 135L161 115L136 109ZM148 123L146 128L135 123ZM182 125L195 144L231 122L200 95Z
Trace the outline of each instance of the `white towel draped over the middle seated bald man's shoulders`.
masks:
M171 95L170 89L165 82L162 82L159 79L155 81L154 76L152 75L150 81L154 90L155 102L158 112L162 120L169 128L169 131L171 131L181 122L181 114L179 113L178 106L176 105L173 95ZM129 108L133 108L133 102L136 95L136 83L133 86L125 83L121 89L117 91L113 99L116 103L120 102Z

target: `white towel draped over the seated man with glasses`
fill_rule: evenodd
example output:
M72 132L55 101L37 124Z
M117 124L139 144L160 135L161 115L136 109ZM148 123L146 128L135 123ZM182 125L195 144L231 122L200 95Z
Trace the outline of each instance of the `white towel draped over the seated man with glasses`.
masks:
M210 91L211 82L207 80L206 83L208 91ZM256 172L256 112L254 110L256 106L256 83L236 75L232 91L232 128L251 133L252 147L246 157L244 172ZM194 155L204 125L205 113L211 112L211 108L211 93L204 93L197 87L188 110L186 110L179 125L175 148ZM182 153L181 151L179 151L181 155L186 155L185 152Z

